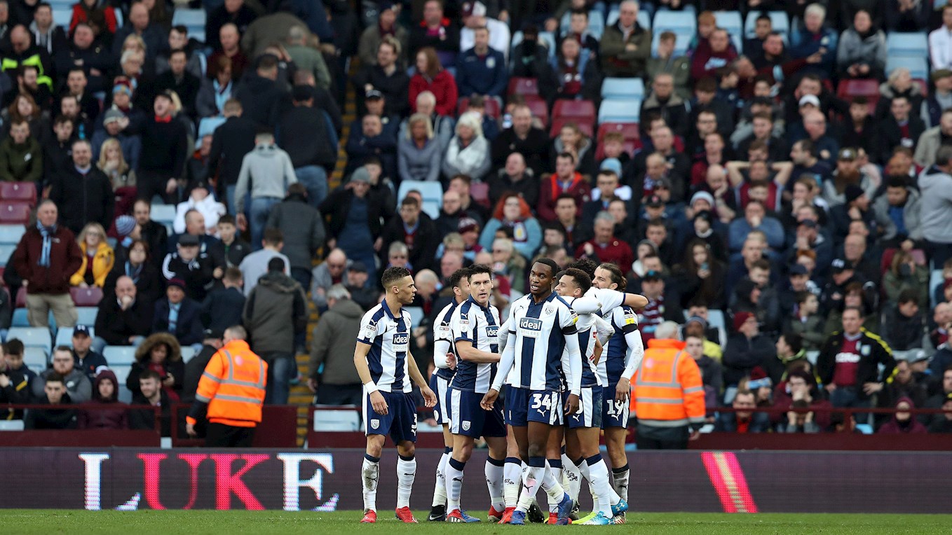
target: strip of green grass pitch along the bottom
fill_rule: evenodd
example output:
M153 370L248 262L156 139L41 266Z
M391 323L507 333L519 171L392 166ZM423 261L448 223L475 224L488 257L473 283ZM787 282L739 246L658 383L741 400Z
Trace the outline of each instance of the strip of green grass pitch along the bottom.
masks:
M414 511L426 519L426 511ZM377 525L360 525L358 511L77 511L57 509L0 509L0 525L5 534L117 533L149 535L204 535L252 533L254 535L323 535L337 533L443 534L446 529L474 534L534 533L559 530L601 530L617 533L949 533L952 515L901 514L724 514L724 513L628 513L625 525L471 525L427 523L404 525L389 511L379 511Z

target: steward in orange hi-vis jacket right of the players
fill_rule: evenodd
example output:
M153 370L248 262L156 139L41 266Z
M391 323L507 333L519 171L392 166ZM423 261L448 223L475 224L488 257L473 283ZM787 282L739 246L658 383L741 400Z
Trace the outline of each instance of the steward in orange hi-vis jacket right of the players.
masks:
M663 326L656 336L664 334ZM666 337L648 340L633 383L631 411L638 417L638 449L687 449L688 438L704 425L704 384L684 342Z

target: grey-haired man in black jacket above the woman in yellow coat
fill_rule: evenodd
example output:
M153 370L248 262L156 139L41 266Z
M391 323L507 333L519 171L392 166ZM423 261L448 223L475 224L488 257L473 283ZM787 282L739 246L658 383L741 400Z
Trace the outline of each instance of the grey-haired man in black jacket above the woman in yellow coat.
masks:
M60 222L75 234L89 222L111 226L115 195L109 178L92 164L88 141L72 143L72 167L53 178L50 199L60 209Z

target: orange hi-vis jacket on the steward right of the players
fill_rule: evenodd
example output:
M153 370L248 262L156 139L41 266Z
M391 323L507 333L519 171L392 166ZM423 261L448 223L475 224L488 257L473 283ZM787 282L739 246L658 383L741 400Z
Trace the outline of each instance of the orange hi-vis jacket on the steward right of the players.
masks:
M684 342L648 340L645 360L632 382L631 411L639 424L676 428L704 423L701 369L684 352Z

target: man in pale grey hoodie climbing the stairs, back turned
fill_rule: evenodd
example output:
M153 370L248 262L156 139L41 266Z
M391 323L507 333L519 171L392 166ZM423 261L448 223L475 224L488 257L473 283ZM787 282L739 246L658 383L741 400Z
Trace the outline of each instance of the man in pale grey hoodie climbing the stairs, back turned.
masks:
M250 182L250 183L248 183ZM271 206L281 202L288 192L288 185L297 182L294 166L288 153L274 143L274 135L258 134L254 138L254 150L245 155L235 185L235 211L238 228L251 227L251 249L261 249L262 233L268 222ZM245 193L251 192L248 221L245 218ZM250 225L249 225L250 223Z

